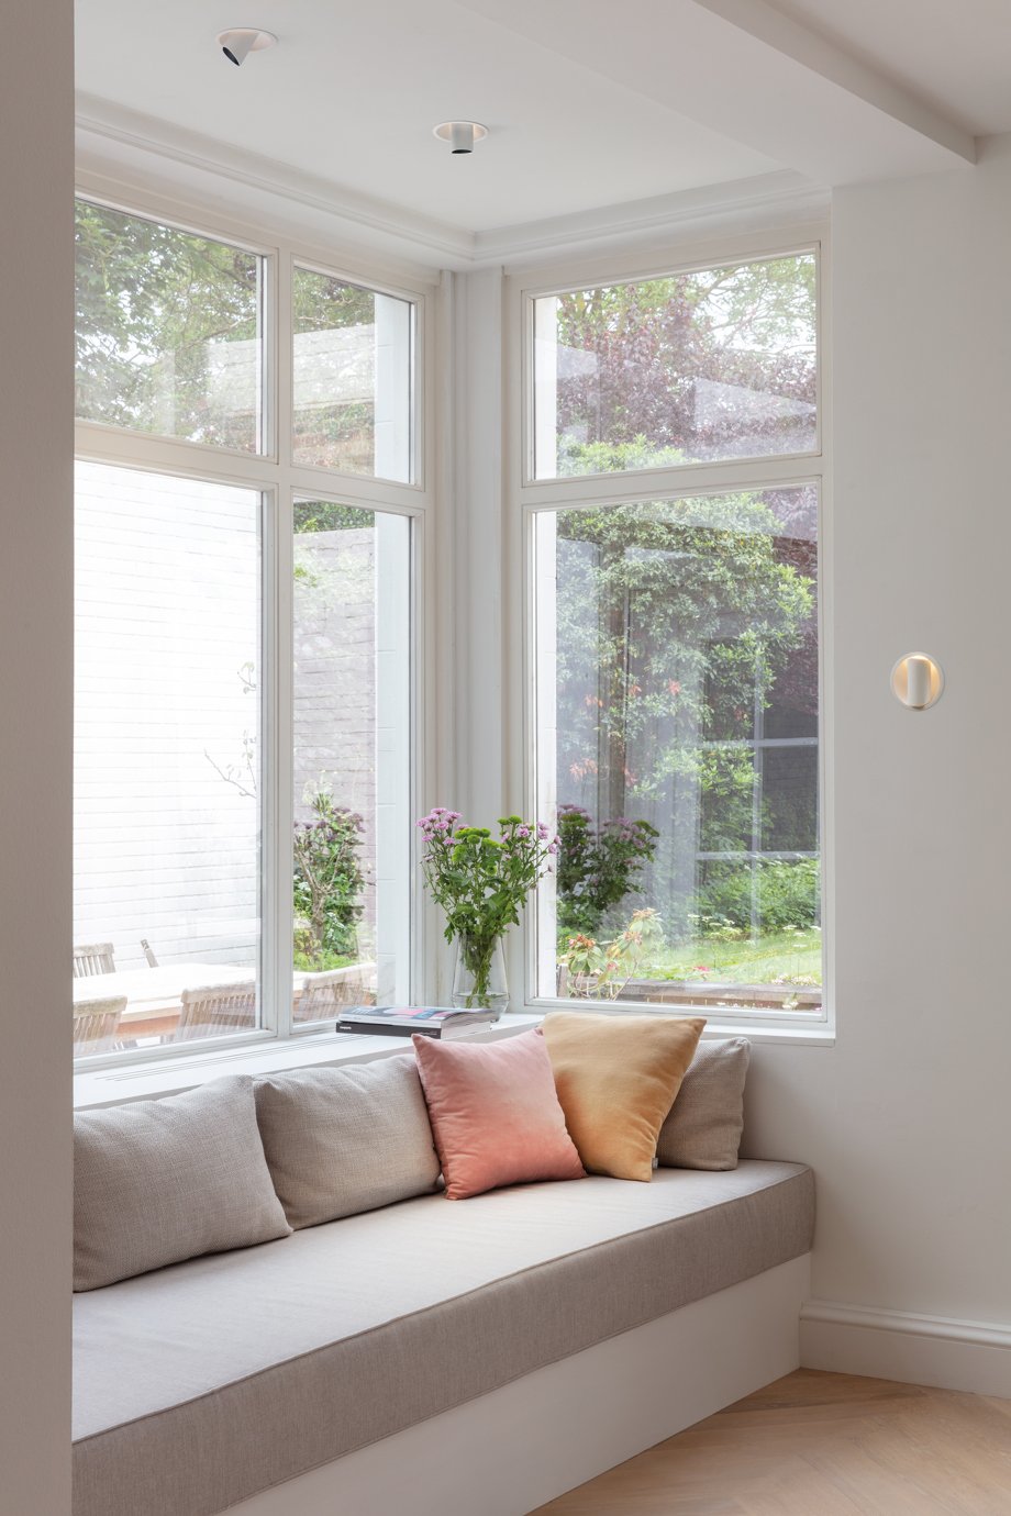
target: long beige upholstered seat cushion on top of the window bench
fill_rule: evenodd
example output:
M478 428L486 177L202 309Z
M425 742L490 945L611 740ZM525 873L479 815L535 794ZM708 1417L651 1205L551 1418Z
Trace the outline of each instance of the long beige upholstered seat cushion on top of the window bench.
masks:
M743 1160L429 1195L79 1295L74 1516L212 1516L785 1263L812 1220L808 1169Z

